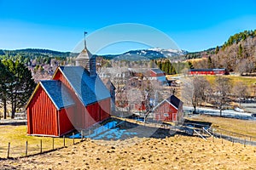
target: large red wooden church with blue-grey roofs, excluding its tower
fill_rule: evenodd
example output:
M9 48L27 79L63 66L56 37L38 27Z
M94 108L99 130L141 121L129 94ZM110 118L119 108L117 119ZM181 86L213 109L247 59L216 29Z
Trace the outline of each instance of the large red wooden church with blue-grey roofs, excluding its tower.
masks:
M27 133L61 136L108 118L110 94L93 69L60 66L52 80L38 82L26 105Z

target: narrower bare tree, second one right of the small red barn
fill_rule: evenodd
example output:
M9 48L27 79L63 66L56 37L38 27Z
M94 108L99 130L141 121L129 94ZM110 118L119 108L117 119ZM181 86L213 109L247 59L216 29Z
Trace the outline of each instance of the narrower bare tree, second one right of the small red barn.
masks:
M215 105L219 109L219 116L222 116L224 105L229 103L231 84L230 79L227 77L217 77L215 80L214 93L212 95L215 100Z

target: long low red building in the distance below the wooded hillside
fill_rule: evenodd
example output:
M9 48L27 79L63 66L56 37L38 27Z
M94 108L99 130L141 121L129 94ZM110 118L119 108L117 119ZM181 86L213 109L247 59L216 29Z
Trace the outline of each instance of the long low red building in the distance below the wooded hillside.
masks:
M228 75L229 72L226 69L190 69L188 74L194 75Z

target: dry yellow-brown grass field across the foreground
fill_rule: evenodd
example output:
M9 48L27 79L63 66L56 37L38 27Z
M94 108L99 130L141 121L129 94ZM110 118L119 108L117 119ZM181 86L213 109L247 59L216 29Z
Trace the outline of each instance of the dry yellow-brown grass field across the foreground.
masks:
M212 121L213 122L213 121ZM0 144L18 140L38 144L24 126L1 126ZM143 130L143 129L142 129ZM11 131L12 133L8 132ZM17 134L18 133L18 134ZM13 137L13 134L16 137ZM51 147L51 138L49 140ZM62 144L62 139L55 139ZM79 139L77 139L79 140ZM34 141L34 142L32 142ZM68 141L71 142L70 140ZM24 146L25 147L25 146ZM6 152L4 152L6 153ZM5 156L6 157L6 156ZM255 169L256 147L222 139L175 135L166 139L85 139L79 144L37 156L0 159L0 169Z

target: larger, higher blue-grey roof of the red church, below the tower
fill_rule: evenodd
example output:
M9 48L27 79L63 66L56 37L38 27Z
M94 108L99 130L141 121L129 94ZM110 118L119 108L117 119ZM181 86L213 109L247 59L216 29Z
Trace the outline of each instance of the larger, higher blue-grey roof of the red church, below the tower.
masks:
M110 98L108 88L103 84L101 78L90 77L89 71L84 67L60 66L59 68L84 105Z

